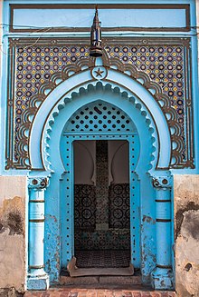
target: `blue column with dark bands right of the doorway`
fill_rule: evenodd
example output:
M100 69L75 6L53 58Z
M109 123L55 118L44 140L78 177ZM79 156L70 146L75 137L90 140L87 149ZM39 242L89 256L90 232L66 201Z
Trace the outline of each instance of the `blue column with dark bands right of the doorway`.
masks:
M152 272L152 280L156 290L169 290L174 287L171 259L171 177L155 177L153 185L156 188L156 269Z

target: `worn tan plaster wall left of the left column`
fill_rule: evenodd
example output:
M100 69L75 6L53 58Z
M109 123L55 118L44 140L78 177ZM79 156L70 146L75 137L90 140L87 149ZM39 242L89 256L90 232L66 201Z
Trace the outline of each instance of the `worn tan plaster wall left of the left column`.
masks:
M0 288L24 292L26 177L0 176L0 189Z

